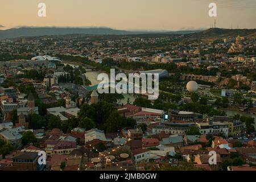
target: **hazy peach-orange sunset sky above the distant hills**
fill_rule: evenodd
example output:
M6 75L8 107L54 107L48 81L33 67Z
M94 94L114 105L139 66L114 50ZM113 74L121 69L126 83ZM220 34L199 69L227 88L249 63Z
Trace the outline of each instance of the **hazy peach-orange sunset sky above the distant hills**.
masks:
M38 3L47 16L38 16ZM16 26L105 26L122 30L209 28L210 2L217 27L256 28L256 0L0 0L0 28ZM3 28L2 28L3 29Z

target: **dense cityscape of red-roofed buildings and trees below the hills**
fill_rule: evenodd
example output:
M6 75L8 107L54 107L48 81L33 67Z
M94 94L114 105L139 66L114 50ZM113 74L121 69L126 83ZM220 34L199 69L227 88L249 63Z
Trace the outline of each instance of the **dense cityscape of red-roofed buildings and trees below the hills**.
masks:
M255 171L255 32L0 40L0 171ZM110 69L158 99L98 93Z

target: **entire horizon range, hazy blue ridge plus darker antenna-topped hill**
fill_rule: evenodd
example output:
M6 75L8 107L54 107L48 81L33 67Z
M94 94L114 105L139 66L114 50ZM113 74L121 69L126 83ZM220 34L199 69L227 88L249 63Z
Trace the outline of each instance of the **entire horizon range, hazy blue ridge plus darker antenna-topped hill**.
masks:
M13 39L29 36L46 35L68 35L68 34L86 34L86 35L138 35L138 34L191 34L193 38L204 38L207 36L231 36L240 34L241 36L255 35L256 29L225 29L209 28L207 30L180 30L180 31L126 31L115 30L108 27L20 27L0 30L0 39Z

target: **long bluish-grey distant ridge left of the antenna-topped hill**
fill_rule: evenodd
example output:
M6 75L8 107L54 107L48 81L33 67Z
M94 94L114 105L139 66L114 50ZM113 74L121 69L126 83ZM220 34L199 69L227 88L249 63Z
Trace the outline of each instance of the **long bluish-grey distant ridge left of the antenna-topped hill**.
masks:
M193 31L125 31L112 28L63 28L63 27L21 27L0 30L0 39L11 39L22 36L43 36L43 35L67 35L67 34L88 34L88 35L136 35L136 34L191 34Z

